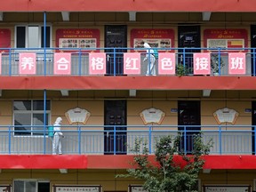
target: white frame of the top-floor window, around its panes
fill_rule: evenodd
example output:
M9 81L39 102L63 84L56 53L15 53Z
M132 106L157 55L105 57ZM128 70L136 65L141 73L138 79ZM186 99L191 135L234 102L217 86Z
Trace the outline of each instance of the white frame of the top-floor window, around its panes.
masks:
M25 47L17 47L17 28L18 27L23 27L25 28ZM28 47L28 28L29 27L38 27L38 41L37 41L37 44L38 44L38 47ZM19 25L16 25L15 26L15 30L14 30L14 33L15 33L15 38L14 38L14 48L17 48L17 49L24 49L24 48L38 48L38 49L42 49L44 48L42 45L42 38L43 38L43 34L42 34L42 28L44 28L44 25L43 24L19 24ZM46 44L49 43L49 47L47 48L50 48L52 47L52 25L49 25L49 24L46 24L46 28L50 28L50 32L49 32L49 42L46 42Z

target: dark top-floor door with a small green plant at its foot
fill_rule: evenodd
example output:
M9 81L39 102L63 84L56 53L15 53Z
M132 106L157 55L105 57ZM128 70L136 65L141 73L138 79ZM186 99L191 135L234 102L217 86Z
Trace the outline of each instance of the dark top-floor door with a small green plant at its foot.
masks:
M178 27L178 44L179 48L200 48L200 26L179 26ZM200 49L186 49L185 53L183 49L179 49L178 63L188 67L189 72L193 71L193 52L201 52Z

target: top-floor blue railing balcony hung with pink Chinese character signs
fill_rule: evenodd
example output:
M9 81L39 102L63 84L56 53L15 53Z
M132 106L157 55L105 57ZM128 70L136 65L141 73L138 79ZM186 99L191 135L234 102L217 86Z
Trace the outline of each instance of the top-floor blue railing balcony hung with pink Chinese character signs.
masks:
M255 48L2 48L1 76L255 76ZM144 60L148 56L147 60ZM151 61L150 61L151 60ZM154 61L154 63L152 62Z

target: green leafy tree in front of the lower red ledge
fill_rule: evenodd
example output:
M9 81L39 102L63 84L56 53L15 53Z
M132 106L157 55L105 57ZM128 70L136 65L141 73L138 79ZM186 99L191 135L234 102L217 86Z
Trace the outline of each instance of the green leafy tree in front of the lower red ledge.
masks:
M147 141L137 138L132 169L117 174L117 178L133 177L144 180L143 188L149 192L193 191L199 172L203 169L204 156L210 153L212 140L204 144L202 134L193 135L193 150L186 154L180 148L182 136L163 136L156 140L155 160L150 160ZM178 159L178 160L177 160Z

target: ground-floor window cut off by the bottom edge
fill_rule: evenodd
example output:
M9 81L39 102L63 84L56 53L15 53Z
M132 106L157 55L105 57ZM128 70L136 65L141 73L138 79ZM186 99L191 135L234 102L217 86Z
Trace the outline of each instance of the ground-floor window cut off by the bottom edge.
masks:
M14 180L14 192L50 192L49 180Z

